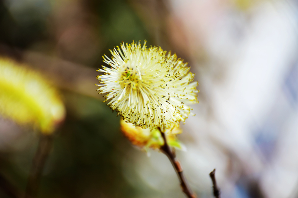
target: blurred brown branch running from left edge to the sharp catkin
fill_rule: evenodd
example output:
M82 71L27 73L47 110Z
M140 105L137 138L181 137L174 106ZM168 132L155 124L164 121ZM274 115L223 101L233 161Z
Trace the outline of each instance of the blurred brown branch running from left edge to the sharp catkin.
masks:
M97 96L97 87L94 85L98 83L96 76L99 73L96 72L96 69L40 52L23 51L1 44L0 55L12 57L17 61L21 60L29 68L37 70L50 79L60 89L102 99L102 97Z

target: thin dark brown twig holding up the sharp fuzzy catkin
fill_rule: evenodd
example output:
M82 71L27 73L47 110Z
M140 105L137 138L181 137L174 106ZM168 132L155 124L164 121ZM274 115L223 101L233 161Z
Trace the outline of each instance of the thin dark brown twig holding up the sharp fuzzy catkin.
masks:
M160 128L159 131L161 133L161 136L163 138L164 144L162 147L160 147L160 150L169 158L171 161L177 175L180 181L180 186L183 191L183 193L188 197L188 198L196 198L196 195L192 192L190 189L189 185L187 184L187 180L183 174L183 169L179 161L176 160L175 155L173 154L171 148L167 144L165 134L161 132Z

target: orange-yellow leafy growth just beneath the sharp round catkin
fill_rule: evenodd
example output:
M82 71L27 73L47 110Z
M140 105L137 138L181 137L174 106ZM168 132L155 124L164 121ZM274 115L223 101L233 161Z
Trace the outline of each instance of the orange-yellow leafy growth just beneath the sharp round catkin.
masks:
M157 129L143 129L136 127L132 123L125 122L123 119L120 121L120 129L124 136L135 146L147 150L148 148L159 149L163 144L160 131ZM177 140L176 134L180 134L180 128L173 130L166 130L167 143L171 147L185 149L185 147Z

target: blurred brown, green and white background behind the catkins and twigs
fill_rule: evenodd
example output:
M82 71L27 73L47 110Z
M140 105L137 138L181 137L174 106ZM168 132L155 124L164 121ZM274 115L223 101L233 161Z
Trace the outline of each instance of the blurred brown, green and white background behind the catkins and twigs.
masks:
M0 0L0 55L26 63L61 93L40 198L181 198L166 156L148 157L97 95L102 55L147 40L189 62L196 116L177 151L190 186L212 198L298 197L297 0ZM0 173L24 190L38 134L0 118ZM0 189L0 198L9 198Z

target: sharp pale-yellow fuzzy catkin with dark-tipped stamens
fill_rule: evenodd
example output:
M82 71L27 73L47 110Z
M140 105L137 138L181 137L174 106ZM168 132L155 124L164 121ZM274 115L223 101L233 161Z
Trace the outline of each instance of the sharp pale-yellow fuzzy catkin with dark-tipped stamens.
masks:
M197 103L198 82L183 59L160 47L147 49L133 42L110 50L112 58L104 55L103 66L97 71L99 93L127 122L161 131L177 127L192 114L187 104Z

